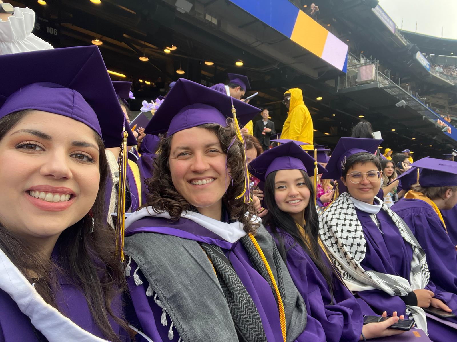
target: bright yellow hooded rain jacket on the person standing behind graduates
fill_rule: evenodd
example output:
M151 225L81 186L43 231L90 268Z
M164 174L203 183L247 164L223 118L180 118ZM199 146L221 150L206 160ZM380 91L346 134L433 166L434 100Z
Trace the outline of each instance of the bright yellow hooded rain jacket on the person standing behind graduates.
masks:
M289 113L282 127L281 139L298 140L309 145L303 145L303 150L314 150L313 119L303 102L303 92L299 88L287 90L290 94Z

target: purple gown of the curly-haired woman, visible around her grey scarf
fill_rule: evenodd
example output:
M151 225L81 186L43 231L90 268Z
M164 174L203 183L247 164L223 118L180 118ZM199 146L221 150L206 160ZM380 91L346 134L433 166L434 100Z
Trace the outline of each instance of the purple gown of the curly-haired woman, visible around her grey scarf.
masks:
M141 221L145 219L148 220L148 224L150 226L140 227L143 225ZM156 224L150 224L151 222L155 222ZM220 247L234 267L239 279L257 307L257 311L259 312L260 319L265 330L267 342L283 341L278 308L276 299L271 291L271 287L253 267L249 256L240 241L230 243L223 240L217 234L187 218L180 218L179 220L171 223L169 220L161 218L143 218L128 227L126 235L144 232L174 235L180 238L191 239L197 242L213 244ZM173 339L168 339L170 318L167 316L168 326L162 326L160 323L162 309L155 303L152 296L146 296L146 290L148 289L149 283L141 273L141 270L138 270L137 275L139 275L140 279L143 281L143 285L135 285L133 272L136 268L137 265L132 260L131 273L130 277L127 278L127 282L136 317L128 316L129 321L136 320L141 326L144 334L151 338L154 342L177 342L179 336L175 328L173 328ZM304 334L302 333L296 341L308 342L309 340L307 338L303 338L303 335ZM139 339L138 341L143 340Z

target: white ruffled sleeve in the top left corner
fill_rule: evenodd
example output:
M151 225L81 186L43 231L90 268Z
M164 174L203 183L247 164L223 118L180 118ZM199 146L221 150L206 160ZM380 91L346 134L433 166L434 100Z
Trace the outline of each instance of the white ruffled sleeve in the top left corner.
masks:
M0 55L53 49L32 33L34 28L35 12L27 7L15 7L7 21L0 20Z

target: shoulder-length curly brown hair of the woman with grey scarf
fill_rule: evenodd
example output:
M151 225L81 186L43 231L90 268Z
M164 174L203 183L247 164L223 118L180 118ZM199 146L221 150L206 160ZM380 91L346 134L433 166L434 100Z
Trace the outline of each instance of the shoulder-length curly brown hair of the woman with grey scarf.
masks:
M233 181L228 186L222 201L230 218L243 223L246 233L254 233L259 227L258 223L252 221L255 216L254 205L244 203L243 198L236 199L244 189L244 146L243 142L236 138L233 122L229 121L228 127L219 124L202 124L197 127L213 132L227 155L227 168ZM197 208L176 191L171 180L169 157L172 138L173 135L160 136L159 149L153 163L153 176L145 181L149 193L146 195L146 204L143 207L151 206L155 212L166 211L170 213L173 220L177 220L183 211L197 212Z

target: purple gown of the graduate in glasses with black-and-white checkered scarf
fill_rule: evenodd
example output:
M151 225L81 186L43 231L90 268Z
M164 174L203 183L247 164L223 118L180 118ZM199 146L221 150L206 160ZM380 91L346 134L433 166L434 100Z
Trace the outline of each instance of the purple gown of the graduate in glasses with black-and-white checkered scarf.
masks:
M404 242L398 228L390 217L385 212L380 211L376 215L380 227L377 228L369 213L359 209L356 209L356 213L363 227L367 243L365 259L361 262L361 266L366 270L398 275L409 280L413 250L409 244ZM453 309L453 313L457 313L456 295L440 291L432 281L429 282L425 289L433 291L435 298L441 299ZM399 316L406 316L406 305L399 296L388 295L382 290L366 290L356 294L362 300L359 299L359 302L364 315L367 315L368 304L378 314L382 314L383 311L388 313L398 311ZM453 318L450 321L455 323L457 319ZM457 330L451 327L428 318L427 326L429 337L432 341L449 342L457 340Z

